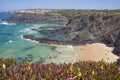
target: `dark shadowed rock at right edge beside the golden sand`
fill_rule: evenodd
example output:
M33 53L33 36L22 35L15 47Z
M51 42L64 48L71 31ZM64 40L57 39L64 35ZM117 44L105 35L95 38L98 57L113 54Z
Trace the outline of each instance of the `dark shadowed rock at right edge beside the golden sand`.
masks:
M116 38L116 41L114 43L114 50L113 53L120 56L120 32Z

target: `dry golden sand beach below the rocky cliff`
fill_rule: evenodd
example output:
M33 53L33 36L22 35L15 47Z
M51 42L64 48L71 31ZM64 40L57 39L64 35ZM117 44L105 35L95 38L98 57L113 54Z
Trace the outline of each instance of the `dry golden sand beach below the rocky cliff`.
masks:
M73 46L76 60L79 61L100 61L115 62L119 57L112 53L113 48L102 43L93 43L80 46Z

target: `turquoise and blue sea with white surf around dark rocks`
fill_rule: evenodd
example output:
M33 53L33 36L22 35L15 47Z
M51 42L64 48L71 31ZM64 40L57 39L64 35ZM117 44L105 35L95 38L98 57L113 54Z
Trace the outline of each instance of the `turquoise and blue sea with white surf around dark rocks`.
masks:
M56 29L63 25L20 24L1 20L9 16L9 13L0 13L0 58L14 57L18 62L30 59L31 62L42 63L69 63L75 61L74 49L71 45L42 44L23 38L23 35L65 38L65 35L62 34L45 34L36 31Z

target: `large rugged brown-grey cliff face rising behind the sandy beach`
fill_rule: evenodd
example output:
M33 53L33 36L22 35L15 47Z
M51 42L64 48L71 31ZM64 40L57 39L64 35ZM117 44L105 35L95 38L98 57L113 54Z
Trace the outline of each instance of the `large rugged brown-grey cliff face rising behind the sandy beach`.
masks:
M71 29L71 33L68 33L70 38L79 43L103 42L113 46L120 31L120 15L103 12L81 13L73 16L67 27Z

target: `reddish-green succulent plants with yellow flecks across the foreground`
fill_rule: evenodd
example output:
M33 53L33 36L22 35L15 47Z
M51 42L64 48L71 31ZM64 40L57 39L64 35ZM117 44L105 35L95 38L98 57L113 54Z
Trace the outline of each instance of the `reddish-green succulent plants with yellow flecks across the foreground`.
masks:
M68 64L29 63L0 59L0 80L119 80L117 63L86 61Z

